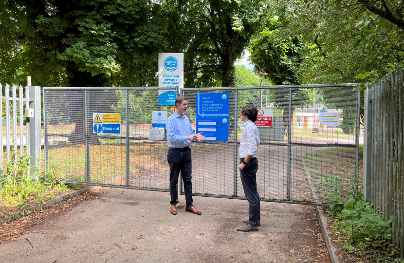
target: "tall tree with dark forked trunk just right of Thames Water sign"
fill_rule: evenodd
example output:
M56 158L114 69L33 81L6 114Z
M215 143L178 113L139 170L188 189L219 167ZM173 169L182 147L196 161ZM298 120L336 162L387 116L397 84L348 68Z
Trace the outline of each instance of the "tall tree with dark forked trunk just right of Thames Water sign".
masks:
M184 86L232 86L234 63L257 28L261 2L170 0L166 6L171 49L184 51Z

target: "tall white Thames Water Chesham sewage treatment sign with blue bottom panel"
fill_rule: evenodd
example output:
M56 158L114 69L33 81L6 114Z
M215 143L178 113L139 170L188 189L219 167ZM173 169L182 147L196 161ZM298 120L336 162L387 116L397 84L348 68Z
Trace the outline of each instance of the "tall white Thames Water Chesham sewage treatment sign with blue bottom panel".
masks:
M159 87L184 88L184 53L159 53ZM159 90L159 105L175 105L175 91Z

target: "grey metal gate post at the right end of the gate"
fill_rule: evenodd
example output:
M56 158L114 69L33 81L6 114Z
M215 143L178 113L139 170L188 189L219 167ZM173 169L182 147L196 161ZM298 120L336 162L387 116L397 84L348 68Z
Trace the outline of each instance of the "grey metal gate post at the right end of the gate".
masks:
M372 88L365 84L363 120L363 193L367 202L372 198Z

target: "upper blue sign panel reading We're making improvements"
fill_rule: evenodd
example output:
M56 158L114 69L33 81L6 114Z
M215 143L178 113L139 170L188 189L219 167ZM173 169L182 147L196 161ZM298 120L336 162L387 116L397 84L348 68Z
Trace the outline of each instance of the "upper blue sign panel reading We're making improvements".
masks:
M197 117L228 117L229 93L198 93Z

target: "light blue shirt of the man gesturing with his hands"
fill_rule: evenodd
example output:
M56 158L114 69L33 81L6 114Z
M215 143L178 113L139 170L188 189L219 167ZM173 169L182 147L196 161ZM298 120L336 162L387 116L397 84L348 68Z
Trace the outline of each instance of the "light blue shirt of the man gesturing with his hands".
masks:
M167 130L167 144L172 148L184 148L191 145L189 135L195 135L187 116L180 116L177 112L172 114L165 123Z

